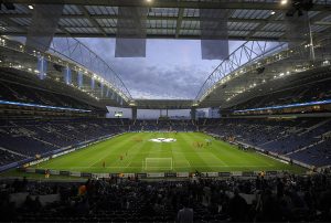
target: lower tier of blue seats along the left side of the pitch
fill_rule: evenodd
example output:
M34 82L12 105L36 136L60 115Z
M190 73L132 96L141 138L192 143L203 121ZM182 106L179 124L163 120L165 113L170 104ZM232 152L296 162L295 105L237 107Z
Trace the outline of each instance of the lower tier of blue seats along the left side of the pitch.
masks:
M113 119L6 119L0 120L0 147L34 157L124 130Z

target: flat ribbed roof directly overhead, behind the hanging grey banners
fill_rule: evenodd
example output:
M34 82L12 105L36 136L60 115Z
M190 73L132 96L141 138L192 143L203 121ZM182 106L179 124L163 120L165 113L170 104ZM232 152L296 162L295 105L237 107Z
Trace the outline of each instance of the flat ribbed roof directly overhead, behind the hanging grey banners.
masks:
M291 4L278 0L4 0L14 10L0 10L0 32L26 35L32 21L29 6L64 3L56 36L115 36L119 7L145 7L147 38L201 39L199 9L228 9L229 40L285 39L284 12ZM331 25L331 1L314 0L309 11L312 32L321 33Z

